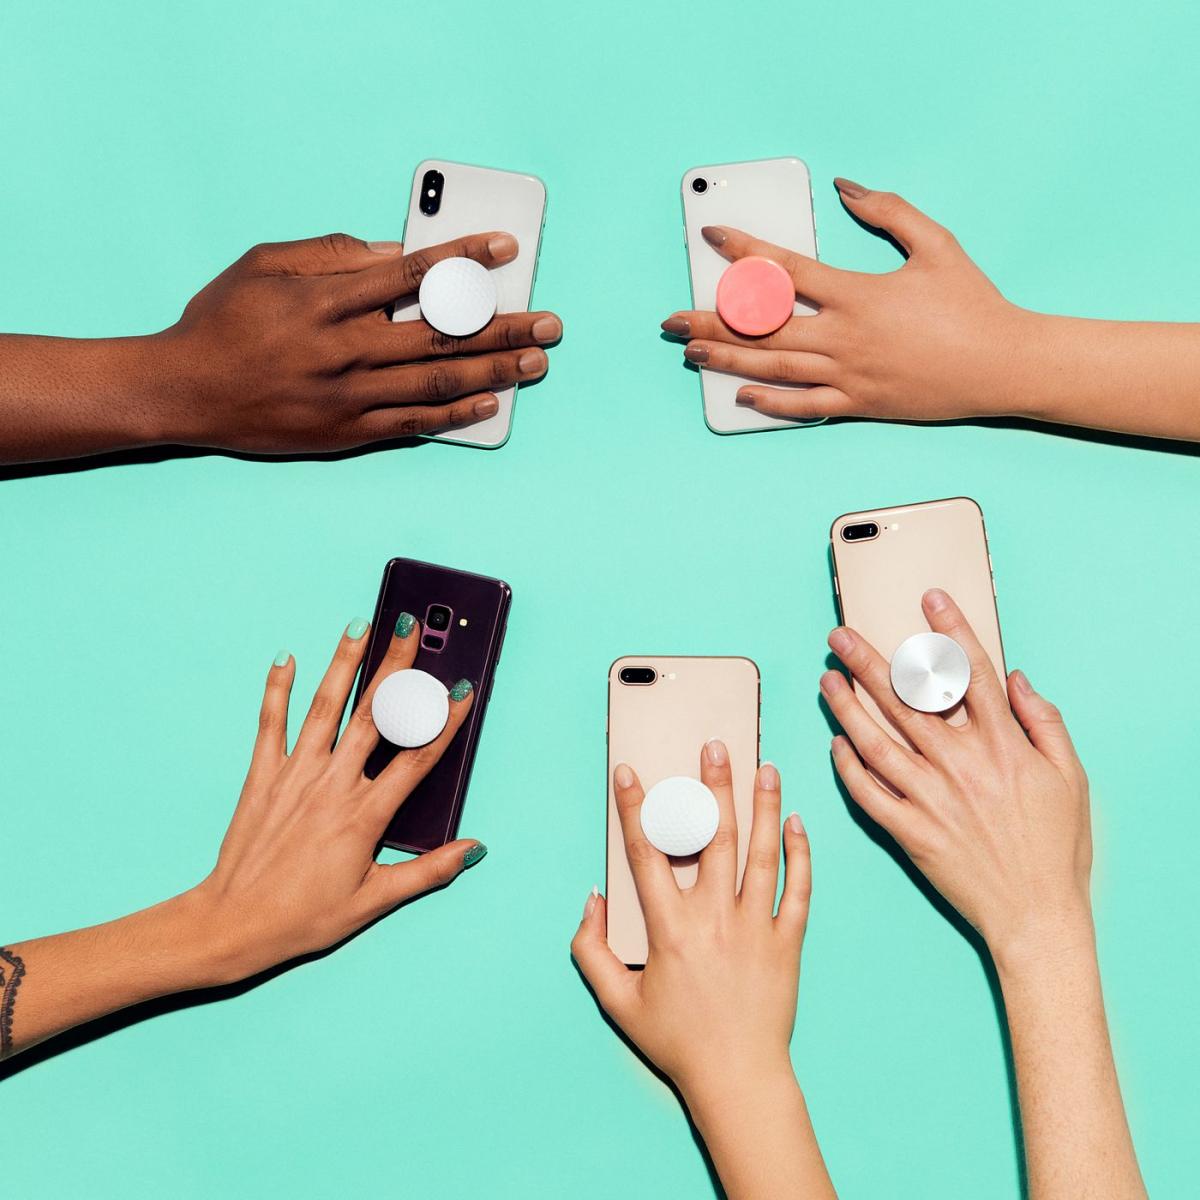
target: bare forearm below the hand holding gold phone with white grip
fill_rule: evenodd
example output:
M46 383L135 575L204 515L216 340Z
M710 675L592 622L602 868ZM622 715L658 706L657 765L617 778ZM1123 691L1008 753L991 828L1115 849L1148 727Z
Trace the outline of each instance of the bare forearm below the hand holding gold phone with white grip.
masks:
M791 1064L684 1090L730 1200L834 1196Z

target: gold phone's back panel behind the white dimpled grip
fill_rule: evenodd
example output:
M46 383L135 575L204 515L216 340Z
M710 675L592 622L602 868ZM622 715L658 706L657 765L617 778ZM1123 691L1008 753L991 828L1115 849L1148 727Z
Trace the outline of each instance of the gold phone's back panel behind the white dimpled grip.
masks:
M653 684L623 684L623 667L658 672ZM660 779L700 779L704 743L720 738L733 767L738 818L738 886L746 863L754 817L754 776L758 769L758 668L750 659L618 659L608 670L608 944L629 966L646 962L646 923L625 857L612 772L626 762L649 791ZM680 887L696 882L697 858L671 860Z

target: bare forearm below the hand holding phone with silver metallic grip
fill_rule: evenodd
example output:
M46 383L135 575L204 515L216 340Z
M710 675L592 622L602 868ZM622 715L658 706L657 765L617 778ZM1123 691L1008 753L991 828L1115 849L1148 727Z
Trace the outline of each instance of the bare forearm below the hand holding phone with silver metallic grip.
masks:
M1031 1200L1144 1196L1090 918L996 955Z

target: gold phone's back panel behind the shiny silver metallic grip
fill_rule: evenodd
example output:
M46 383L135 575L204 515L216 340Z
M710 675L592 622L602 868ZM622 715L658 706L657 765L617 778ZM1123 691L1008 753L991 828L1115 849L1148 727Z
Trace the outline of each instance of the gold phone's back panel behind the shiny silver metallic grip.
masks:
M877 538L842 540L846 526L864 521L878 524ZM830 541L842 624L858 630L883 658L890 661L905 638L929 629L920 598L930 588L941 588L954 598L1004 678L988 534L974 500L956 497L847 512L834 521ZM904 742L858 683L854 689L866 710ZM952 709L947 719L961 724L966 719L962 706Z

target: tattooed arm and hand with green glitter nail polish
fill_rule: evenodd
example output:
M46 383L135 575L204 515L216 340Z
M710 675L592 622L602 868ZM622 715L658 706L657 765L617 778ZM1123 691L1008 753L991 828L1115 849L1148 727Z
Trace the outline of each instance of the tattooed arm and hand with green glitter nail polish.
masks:
M287 650L276 655L250 772L208 878L107 925L0 948L0 1058L128 1004L234 983L326 950L484 858L482 842L462 838L408 862L374 860L388 822L473 702L470 682L460 680L433 742L402 750L374 780L362 774L378 742L374 685L416 658L420 625L406 616L338 736L370 628L361 619L346 626L290 751L296 662Z

